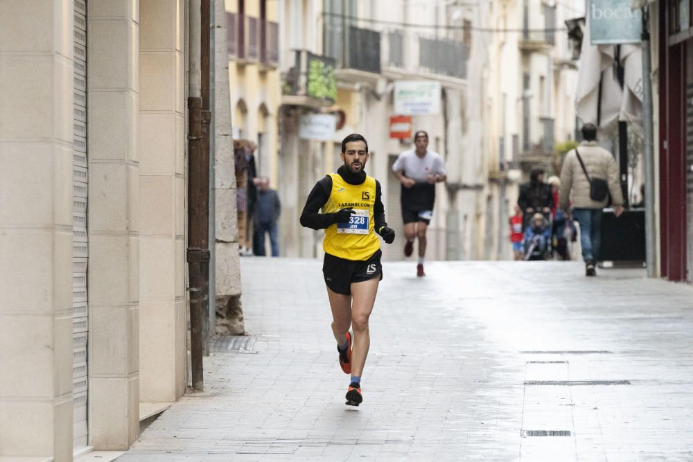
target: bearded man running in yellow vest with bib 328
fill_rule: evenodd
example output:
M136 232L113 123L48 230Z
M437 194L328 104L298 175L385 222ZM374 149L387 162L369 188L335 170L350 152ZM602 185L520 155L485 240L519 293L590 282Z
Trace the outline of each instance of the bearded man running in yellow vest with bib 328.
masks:
M332 332L342 371L351 374L347 405L358 406L363 400L361 373L371 344L368 319L383 278L376 233L391 244L394 231L385 222L380 183L364 171L368 161L366 139L360 134L344 138L340 158L344 165L310 191L301 225L325 229L322 272L332 309ZM320 208L322 213L318 213Z

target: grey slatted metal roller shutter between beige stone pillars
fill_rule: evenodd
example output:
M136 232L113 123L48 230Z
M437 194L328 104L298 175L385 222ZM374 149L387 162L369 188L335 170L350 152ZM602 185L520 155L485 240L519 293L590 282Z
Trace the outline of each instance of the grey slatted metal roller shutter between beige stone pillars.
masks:
M74 0L72 154L73 450L87 445L87 0Z

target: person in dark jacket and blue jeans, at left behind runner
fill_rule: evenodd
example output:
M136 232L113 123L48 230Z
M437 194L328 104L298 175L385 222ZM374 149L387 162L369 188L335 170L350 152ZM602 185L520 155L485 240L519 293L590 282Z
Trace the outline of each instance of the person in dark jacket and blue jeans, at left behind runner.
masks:
M279 256L279 239L277 236L277 222L281 214L279 195L274 189L270 189L270 179L259 177L255 179L258 189L258 197L255 203L253 242L255 254L265 256L265 233L270 234L270 247L272 256Z

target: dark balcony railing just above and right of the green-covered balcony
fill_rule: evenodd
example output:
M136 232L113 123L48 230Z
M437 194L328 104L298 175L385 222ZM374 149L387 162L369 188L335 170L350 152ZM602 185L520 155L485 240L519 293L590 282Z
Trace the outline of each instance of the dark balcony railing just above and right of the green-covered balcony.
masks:
M346 31L346 33L343 33ZM376 30L326 22L323 29L324 51L344 69L380 73L380 33Z

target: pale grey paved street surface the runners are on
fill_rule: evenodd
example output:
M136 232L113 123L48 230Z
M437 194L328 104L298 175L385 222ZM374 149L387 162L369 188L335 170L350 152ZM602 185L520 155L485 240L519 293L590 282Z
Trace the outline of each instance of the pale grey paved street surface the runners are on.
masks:
M364 403L344 405L317 260L244 258L251 353L131 461L693 460L693 289L580 263L385 263ZM254 344L252 344L254 341Z

